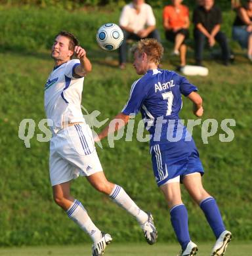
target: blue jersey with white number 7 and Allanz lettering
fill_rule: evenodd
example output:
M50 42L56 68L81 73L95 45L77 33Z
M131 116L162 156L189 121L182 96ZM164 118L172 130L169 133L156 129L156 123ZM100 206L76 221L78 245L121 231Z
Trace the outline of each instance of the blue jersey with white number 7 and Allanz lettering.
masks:
M198 91L197 87L175 72L160 69L148 70L133 83L129 100L122 113L130 115L140 111L146 129L152 135L155 131L157 132L159 120L163 119L161 141L165 142L167 129L173 129L172 133L184 129L179 122L179 111L182 108L181 95L188 96L193 91Z

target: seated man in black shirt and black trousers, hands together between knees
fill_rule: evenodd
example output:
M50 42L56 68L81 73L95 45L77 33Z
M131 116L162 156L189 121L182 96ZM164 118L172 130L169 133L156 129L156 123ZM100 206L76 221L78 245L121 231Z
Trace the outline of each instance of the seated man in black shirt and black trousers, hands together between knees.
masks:
M221 32L222 14L221 10L215 6L215 1L203 0L201 5L194 10L193 22L196 65L202 66L203 49L205 39L207 39L210 47L215 45L215 41L219 43L222 60L227 66L230 60L230 49L226 35Z

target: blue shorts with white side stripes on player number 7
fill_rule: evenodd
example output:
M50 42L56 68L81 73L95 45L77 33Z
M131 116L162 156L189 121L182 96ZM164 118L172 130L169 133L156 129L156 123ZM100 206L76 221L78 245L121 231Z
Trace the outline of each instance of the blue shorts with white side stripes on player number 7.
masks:
M178 142L175 142L178 143ZM200 161L199 153L194 142L189 142L190 150L183 151L182 143L176 144L177 152L172 152L171 146L167 144L155 144L150 147L150 154L152 155L152 167L154 176L158 186L161 186L169 179L173 179L180 175L180 181L185 175L190 173L200 173L203 175L203 166ZM168 143L169 144L169 143ZM180 151L179 151L180 148Z

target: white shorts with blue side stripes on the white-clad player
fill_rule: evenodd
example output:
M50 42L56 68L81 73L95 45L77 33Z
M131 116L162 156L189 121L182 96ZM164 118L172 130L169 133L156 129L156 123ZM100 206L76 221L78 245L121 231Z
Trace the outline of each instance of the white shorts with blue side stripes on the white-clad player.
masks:
M72 125L54 135L49 169L52 186L103 171L89 125Z

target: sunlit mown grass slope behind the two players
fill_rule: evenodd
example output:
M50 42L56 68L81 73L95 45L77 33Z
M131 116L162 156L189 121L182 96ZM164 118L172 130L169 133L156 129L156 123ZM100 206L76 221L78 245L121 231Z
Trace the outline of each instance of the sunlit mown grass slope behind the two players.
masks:
M10 18L12 15L18 17L25 12L14 10L13 13L5 12L5 15L9 15ZM69 22L66 24L66 29L74 32L78 30L77 24L81 19L88 22L85 16L80 18L79 12L72 13L70 22L67 12L63 12L62 17L58 18L56 11L53 14L52 11L36 10L29 17L31 22L34 16L38 15L39 18L45 16L45 23L49 26L45 30L52 30L51 34L60 30L62 20L66 17ZM92 16L96 24L108 20L108 14L106 16L102 13L101 21L97 21L97 15L94 13ZM49 16L56 21L50 23ZM116 22L115 18L110 20ZM29 23L29 20L24 19L23 22ZM53 28L50 28L51 26ZM39 27L39 22L33 24L31 28L33 30L27 38L33 38L38 42L35 43L37 46L43 42L43 37L36 38L34 35L38 33L38 36L41 36L42 28ZM31 49L23 51L13 47L18 45L18 40L20 45L26 45L22 37L14 41L15 30L13 26L11 32L5 34L8 40L1 37L2 40L8 41L7 48L11 51L0 53L2 67L0 244L72 244L83 240L89 241L89 238L74 223L68 221L66 215L53 203L48 175L49 144L37 142L33 138L31 148L27 149L22 140L18 139L18 126L22 119L32 118L37 123L45 117L42 88L53 63L49 58L49 51L45 51L43 45L38 53L33 45ZM91 37L91 34L95 34L94 24L90 25L87 32L79 31L81 41L87 43L89 56L93 61L93 73L85 80L83 106L89 112L99 110L100 120L112 117L125 104L131 83L138 76L135 75L130 64L127 70L123 72L118 70L115 66L117 54L105 53L96 47L95 39ZM45 35L50 39L46 32ZM3 43L1 45L3 47ZM169 51L165 52L163 67L173 69L177 59L170 58ZM206 64L210 75L190 77L190 81L199 87L203 96L205 106L203 120L215 118L220 122L224 118L236 119L236 127L233 127L235 139L230 143L219 141L219 133L222 133L219 131L209 139L209 144L203 144L200 127L195 128L194 138L205 166L203 179L205 188L217 198L226 226L232 230L237 239L243 240L252 238L249 210L252 199L249 189L251 186L249 152L252 150L251 144L248 143L251 141L251 133L249 133L251 104L249 103L252 96L252 78L251 64L239 49L237 53L236 63L228 68L208 59ZM192 50L189 51L188 56L188 61L192 62ZM194 118L190 109L190 103L184 100L181 117ZM36 127L35 134L37 133L40 132ZM115 148L109 148L106 142L103 142L103 145L104 149L98 149L98 153L108 178L121 184L140 207L152 210L156 217L160 241L174 241L167 206L152 176L148 144L134 139L133 142L120 140L116 142ZM85 179L74 181L72 192L87 207L95 223L102 230L110 231L117 241L142 240L136 221L111 203L106 196L95 192ZM192 239L212 240L213 235L200 209L186 194L183 198L189 210Z

